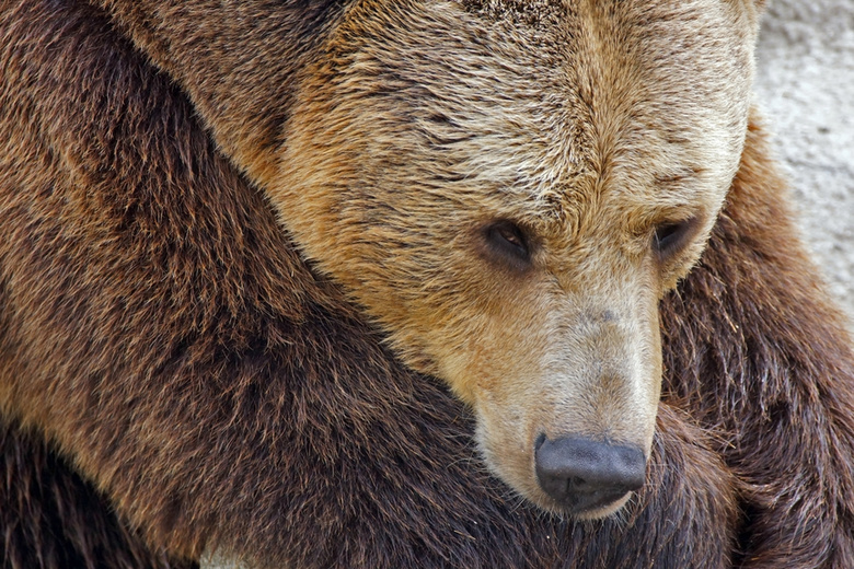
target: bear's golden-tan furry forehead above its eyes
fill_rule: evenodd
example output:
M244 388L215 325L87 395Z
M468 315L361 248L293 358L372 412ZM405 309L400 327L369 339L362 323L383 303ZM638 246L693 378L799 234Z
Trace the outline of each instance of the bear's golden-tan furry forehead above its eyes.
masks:
M336 127L370 130L353 153L373 156L383 184L424 187L413 164L429 163L437 185L481 184L536 207L561 209L591 186L648 201L655 185L666 208L695 200L685 191L697 179L731 175L747 112L734 102L751 69L734 4L394 5L351 10L319 81L334 85Z

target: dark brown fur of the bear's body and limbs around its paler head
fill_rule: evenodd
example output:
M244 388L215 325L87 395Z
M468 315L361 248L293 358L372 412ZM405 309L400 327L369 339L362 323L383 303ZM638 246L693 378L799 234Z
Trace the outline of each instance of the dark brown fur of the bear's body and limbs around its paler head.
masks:
M647 486L615 519L544 516L478 466L468 413L309 270L196 123L194 109L266 179L290 73L310 65L311 42L288 34L316 37L287 10L253 36L257 19L218 22L215 4L143 18L135 2L116 20L184 92L95 10L21 2L0 18L0 402L15 425L2 453L35 465L0 495L28 504L0 508L7 565L62 565L25 557L36 546L153 562L124 524L176 557L220 547L270 567L854 565L850 339L778 206L761 133L703 263L661 307ZM246 37L268 74L238 69L245 53L226 47ZM206 81L208 66L245 90ZM36 507L99 500L45 440L118 513L65 530L91 539L9 533ZM48 467L71 480L53 503L25 483Z

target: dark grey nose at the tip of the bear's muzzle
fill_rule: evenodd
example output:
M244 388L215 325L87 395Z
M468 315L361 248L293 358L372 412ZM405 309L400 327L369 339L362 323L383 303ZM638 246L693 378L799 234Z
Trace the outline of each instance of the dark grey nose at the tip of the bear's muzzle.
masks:
M582 438L538 439L534 451L540 487L572 513L603 508L643 486L646 457L641 449Z

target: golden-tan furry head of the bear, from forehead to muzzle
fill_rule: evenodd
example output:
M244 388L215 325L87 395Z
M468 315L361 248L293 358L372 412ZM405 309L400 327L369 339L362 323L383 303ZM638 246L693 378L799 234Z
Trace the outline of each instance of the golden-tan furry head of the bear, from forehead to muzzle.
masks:
M739 1L362 2L301 72L282 223L545 509L607 515L643 479L658 301L737 170L754 33ZM637 484L585 495L566 463L603 443Z

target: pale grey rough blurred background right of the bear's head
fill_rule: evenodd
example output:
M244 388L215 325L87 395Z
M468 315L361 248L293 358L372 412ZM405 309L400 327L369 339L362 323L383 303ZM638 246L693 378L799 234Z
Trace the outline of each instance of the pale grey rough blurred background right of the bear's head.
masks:
M770 0L757 58L803 236L854 330L854 0Z

